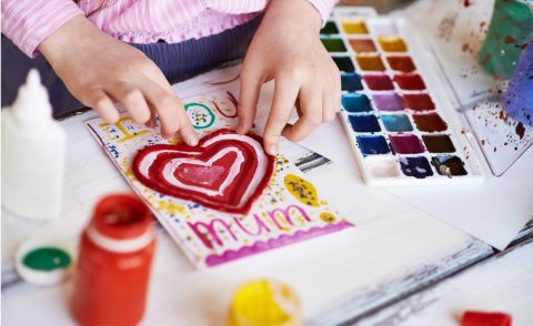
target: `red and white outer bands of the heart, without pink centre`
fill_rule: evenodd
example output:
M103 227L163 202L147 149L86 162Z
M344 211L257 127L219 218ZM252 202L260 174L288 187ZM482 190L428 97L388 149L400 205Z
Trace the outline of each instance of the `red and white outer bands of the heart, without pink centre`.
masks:
M204 136L194 147L184 143L147 146L135 155L132 171L143 185L162 194L228 213L247 214L266 187L274 169L274 156L268 155L261 144L262 139L258 135L240 135L222 129ZM182 182L169 183L163 174L164 167L172 163L172 160L188 160L189 163L201 162L198 165L205 165L224 149L232 149L240 154L235 155L235 160L241 157L243 161L238 164L239 170L231 183L219 194L209 192L209 189L200 191L198 185L191 189L190 185L183 186ZM232 164L233 166L235 164ZM247 173L243 174L242 171ZM167 167L167 176L174 172L175 169ZM179 186L180 183L182 186Z

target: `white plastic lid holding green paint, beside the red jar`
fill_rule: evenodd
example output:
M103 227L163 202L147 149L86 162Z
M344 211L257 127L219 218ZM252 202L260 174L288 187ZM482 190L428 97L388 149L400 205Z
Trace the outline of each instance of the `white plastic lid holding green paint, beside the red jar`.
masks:
M53 240L29 240L19 246L14 268L33 285L53 285L69 277L74 267L72 246Z

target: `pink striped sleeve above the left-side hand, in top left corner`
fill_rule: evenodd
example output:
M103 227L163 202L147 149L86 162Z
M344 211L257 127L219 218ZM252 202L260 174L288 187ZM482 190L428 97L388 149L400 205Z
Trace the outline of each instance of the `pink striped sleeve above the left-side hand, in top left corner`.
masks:
M28 57L69 19L82 14L72 0L2 0L2 33Z

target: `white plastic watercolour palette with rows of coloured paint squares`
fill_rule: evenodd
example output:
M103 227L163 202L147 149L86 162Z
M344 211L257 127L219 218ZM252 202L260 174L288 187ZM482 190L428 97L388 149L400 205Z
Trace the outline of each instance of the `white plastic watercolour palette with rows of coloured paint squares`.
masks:
M335 10L321 40L341 70L342 124L369 185L481 183L483 172L403 20Z

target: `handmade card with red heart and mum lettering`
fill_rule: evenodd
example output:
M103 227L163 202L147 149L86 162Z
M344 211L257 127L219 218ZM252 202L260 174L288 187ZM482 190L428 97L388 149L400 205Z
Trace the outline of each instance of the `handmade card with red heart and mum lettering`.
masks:
M195 147L122 116L87 122L133 190L197 266L214 266L353 226L261 137L238 135L237 100L217 91L184 99Z

